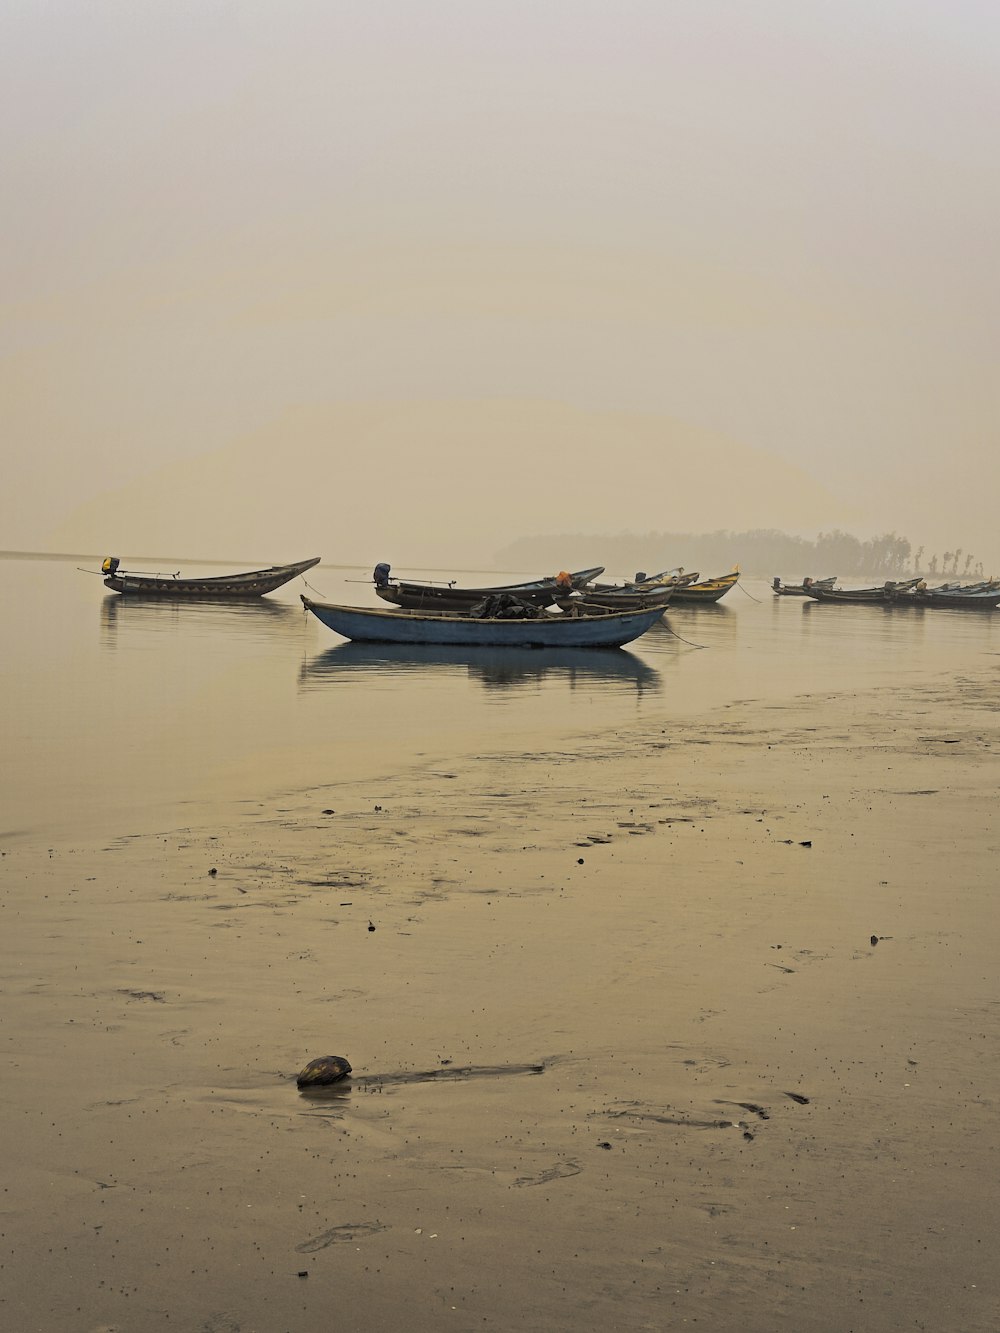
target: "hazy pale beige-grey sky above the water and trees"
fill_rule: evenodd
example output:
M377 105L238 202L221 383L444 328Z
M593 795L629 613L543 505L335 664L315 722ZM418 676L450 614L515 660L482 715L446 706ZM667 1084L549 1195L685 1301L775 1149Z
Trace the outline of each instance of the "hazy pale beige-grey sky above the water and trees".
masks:
M995 0L5 0L0 547L1000 569L999 67Z

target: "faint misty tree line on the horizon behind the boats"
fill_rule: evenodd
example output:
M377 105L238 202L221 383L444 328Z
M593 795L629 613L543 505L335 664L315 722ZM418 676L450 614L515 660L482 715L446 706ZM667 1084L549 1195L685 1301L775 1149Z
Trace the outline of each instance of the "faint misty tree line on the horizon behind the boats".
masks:
M497 552L503 569L585 569L604 564L615 576L659 573L681 565L705 577L739 565L744 573L787 581L799 579L883 577L913 575L931 577L983 577L983 563L963 551L928 553L912 549L907 537L887 532L861 540L849 532L820 532L815 540L795 537L773 528L748 532L647 532L593 536L519 537Z

